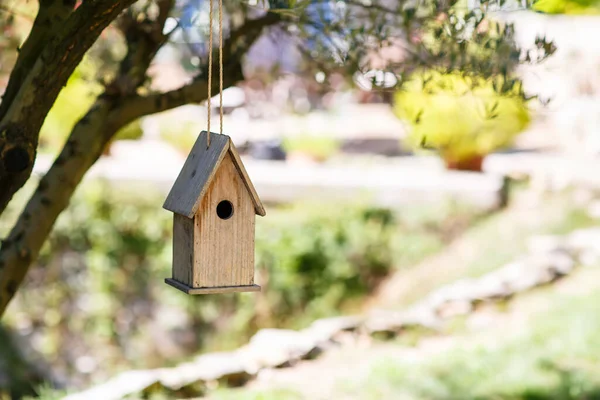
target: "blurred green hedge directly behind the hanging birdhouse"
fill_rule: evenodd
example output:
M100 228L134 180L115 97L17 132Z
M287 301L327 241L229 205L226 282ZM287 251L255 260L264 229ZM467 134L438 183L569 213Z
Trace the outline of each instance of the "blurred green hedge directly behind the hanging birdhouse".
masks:
M257 220L263 291L193 297L163 283L172 253L163 198L89 184L57 221L7 315L55 373L87 381L163 367L243 344L261 327L348 311L392 269L441 248L457 216L472 216L451 203L397 215L362 205L272 208Z

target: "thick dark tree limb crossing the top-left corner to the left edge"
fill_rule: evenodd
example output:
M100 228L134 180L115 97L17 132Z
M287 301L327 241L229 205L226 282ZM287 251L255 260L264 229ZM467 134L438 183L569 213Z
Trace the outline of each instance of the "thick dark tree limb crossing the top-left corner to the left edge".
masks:
M102 30L133 2L83 2L61 24L59 33L45 42L26 76L14 78L18 88L3 105L6 111L0 119L0 213L31 175L40 128L58 93ZM34 48L32 43L32 58Z

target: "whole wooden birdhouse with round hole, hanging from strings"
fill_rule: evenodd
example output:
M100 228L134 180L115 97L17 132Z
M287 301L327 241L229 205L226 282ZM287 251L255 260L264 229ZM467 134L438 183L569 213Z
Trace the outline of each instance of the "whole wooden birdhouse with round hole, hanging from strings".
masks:
M255 215L265 209L231 139L203 131L163 208L173 216L173 276L188 294L259 291Z

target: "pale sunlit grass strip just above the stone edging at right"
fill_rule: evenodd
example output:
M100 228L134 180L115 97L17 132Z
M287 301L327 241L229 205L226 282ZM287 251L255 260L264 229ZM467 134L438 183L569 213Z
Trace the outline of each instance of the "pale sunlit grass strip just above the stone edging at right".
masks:
M406 307L443 285L491 272L524 254L532 236L565 234L594 224L597 221L573 204L569 192L549 196L532 208L509 207L472 226L459 239L460 250L400 272L403 280L414 284L403 287L401 298L390 306Z

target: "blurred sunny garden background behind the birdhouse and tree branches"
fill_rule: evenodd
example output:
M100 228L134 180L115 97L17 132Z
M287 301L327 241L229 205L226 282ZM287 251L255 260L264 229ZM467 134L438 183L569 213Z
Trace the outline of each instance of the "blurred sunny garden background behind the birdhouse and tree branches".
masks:
M244 2L256 16L279 10L262 3ZM352 2L315 3L300 13ZM1 4L3 91L37 5ZM178 33L148 90L195 76L207 7L176 2L165 29ZM247 49L243 80L223 93L223 132L267 205L259 293L194 297L163 283L162 203L206 104L121 129L4 315L0 398L600 399L600 3L451 7L417 13L451 21L446 39L426 23L398 37L429 43L419 54L437 52L435 67L397 73L401 45L352 73L343 60L307 64L306 51L325 51L315 37L339 39L314 26L303 45L265 32ZM476 50L459 27L471 17L486 37ZM125 48L109 26L69 79L0 237Z

